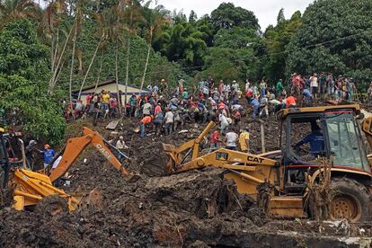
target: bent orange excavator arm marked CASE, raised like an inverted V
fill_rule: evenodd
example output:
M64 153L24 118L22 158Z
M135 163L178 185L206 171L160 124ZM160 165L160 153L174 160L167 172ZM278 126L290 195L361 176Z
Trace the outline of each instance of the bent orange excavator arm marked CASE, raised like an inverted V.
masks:
M90 128L84 127L82 137L72 137L67 140L66 147L57 168L50 171L50 181L55 182L64 175L72 164L74 164L76 158L84 151L86 146L90 144L92 144L121 173L129 175L128 171L105 145L102 136Z

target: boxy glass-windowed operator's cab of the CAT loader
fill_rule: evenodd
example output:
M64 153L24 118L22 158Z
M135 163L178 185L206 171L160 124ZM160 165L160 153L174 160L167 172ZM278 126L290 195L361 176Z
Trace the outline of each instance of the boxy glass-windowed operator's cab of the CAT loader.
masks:
M281 164L287 190L305 188L305 173L319 169L319 157L332 157L332 168L344 173L371 173L357 112L354 105L286 110Z

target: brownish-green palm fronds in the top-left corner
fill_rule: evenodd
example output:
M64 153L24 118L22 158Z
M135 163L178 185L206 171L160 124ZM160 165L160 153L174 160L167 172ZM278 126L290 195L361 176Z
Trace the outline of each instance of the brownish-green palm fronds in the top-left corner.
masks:
M0 25L22 18L36 18L39 5L32 0L2 0L0 1Z

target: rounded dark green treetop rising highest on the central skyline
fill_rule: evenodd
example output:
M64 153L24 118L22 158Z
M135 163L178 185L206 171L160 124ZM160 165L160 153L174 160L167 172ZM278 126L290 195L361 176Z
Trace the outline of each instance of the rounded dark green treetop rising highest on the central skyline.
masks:
M260 25L254 13L241 7L235 7L232 3L220 4L211 15L212 25L218 29L232 29L241 27L244 29L260 30Z

